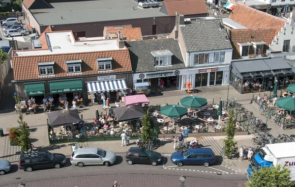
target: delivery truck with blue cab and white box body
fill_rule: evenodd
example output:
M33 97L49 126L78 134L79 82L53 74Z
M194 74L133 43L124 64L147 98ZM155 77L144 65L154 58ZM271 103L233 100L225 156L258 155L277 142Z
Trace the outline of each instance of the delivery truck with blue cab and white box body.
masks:
M252 171L261 167L271 167L281 164L291 170L291 181L295 181L295 142L266 144L260 148L248 166L248 179Z

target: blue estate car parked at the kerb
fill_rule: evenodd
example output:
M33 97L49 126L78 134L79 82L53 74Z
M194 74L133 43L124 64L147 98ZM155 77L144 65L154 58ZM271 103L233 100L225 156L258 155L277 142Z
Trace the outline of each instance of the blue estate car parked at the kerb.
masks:
M209 166L216 162L215 154L210 148L191 148L172 154L171 161L178 166L203 164Z

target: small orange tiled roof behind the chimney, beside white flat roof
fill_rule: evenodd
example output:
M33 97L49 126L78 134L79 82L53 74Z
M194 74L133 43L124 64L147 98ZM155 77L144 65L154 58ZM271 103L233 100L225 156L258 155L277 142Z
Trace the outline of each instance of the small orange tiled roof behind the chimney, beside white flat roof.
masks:
M118 30L120 33L123 34L123 36L126 36L126 40L140 40L142 33L140 27L134 27L134 28L121 28L121 29L106 29L106 34L109 33L115 33L118 36Z

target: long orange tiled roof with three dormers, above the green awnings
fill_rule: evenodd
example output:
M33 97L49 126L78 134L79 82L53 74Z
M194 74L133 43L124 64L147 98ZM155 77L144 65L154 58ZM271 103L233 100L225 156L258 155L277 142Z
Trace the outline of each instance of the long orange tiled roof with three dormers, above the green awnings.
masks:
M112 57L112 71L98 72L96 58ZM68 74L65 60L82 59L82 73ZM55 62L54 76L39 76L38 62ZM131 72L129 51L101 51L87 53L63 53L32 56L12 56L14 80L40 80L73 76L102 75L119 72Z

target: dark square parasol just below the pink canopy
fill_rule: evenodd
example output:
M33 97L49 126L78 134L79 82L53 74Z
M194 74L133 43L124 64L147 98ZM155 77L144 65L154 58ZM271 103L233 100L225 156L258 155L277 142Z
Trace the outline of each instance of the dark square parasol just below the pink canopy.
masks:
M145 111L140 105L113 108L113 112L118 122L136 120L145 115Z

